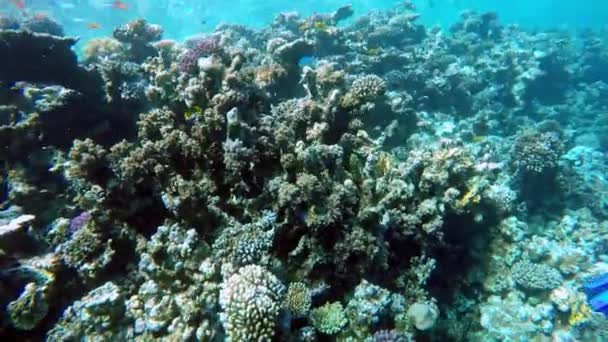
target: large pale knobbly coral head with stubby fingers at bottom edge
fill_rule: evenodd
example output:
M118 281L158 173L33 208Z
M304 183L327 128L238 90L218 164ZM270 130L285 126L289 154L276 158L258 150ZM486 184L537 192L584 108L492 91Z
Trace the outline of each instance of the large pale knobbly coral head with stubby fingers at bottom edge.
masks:
M257 265L242 267L222 284L220 314L228 341L270 341L285 287Z

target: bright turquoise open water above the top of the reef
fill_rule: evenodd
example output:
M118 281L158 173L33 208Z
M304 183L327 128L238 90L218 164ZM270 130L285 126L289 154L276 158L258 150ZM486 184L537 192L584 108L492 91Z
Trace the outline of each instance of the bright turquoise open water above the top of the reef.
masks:
M69 35L83 39L106 36L112 28L134 18L146 18L165 29L165 38L183 39L208 32L222 22L260 27L281 12L297 11L302 15L331 12L351 3L356 15L372 10L390 9L400 4L394 0L125 0L128 7L117 9L111 0L23 0L28 13L45 13L59 20ZM229 5L228 5L229 3ZM560 28L605 29L608 4L603 0L413 0L420 21L427 25L449 26L465 9L495 11L502 22L532 29ZM2 0L0 11L22 15L11 0ZM90 23L99 24L90 29Z

